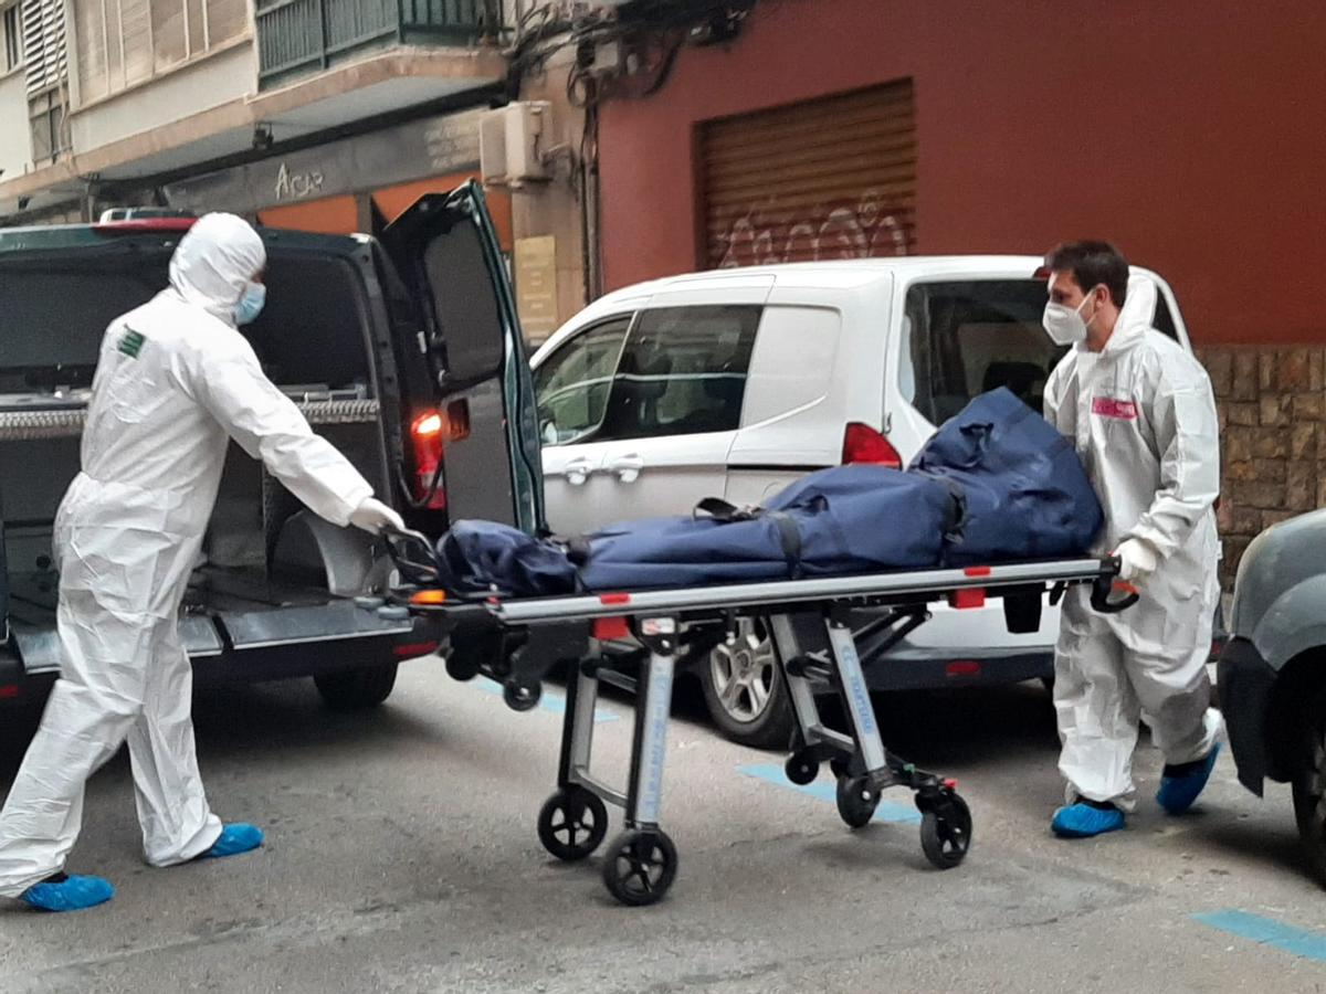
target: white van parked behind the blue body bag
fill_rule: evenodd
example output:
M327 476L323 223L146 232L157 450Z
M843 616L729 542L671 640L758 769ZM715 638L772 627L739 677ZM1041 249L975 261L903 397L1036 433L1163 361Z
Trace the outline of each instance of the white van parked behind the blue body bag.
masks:
M704 497L762 504L842 463L906 465L979 394L1037 411L1063 355L1041 327L1034 256L899 257L727 269L594 302L534 355L549 525L686 514ZM1191 347L1155 273L1154 325ZM891 649L861 645L875 689L1049 679L1058 612L1010 635L996 603L937 610ZM697 663L715 722L784 745L786 690L758 630Z

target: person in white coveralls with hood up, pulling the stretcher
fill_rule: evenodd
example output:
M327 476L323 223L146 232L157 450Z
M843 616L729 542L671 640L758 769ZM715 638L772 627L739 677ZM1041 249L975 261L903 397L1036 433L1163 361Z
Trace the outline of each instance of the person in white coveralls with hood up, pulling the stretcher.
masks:
M260 830L223 826L208 808L176 631L229 439L328 521L402 526L236 330L263 307L265 265L244 220L207 215L175 249L168 289L106 330L82 472L54 525L61 677L0 812L0 897L78 911L113 896L107 881L64 867L84 785L126 740L151 865L263 844Z

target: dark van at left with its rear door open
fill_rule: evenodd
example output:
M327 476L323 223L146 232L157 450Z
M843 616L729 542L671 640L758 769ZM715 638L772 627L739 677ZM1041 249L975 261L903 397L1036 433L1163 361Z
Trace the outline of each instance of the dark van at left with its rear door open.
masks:
M167 285L192 219L0 229L0 704L60 669L52 526L106 326ZM379 239L261 232L268 304L244 329L272 379L410 527L544 520L533 386L505 262L475 183ZM357 598L381 543L317 518L232 445L180 634L199 684L312 676L335 708L391 693L436 648Z

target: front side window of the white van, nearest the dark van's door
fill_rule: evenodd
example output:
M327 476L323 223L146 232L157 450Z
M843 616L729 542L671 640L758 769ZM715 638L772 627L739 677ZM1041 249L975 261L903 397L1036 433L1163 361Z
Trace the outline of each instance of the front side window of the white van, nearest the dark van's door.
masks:
M630 315L595 325L564 343L534 371L544 444L583 440L602 423L630 326Z

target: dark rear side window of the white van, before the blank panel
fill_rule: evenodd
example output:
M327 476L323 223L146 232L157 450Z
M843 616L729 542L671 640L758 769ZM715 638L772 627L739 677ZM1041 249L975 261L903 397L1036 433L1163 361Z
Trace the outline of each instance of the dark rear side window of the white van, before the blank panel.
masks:
M757 306L643 311L594 440L736 431L760 315Z

